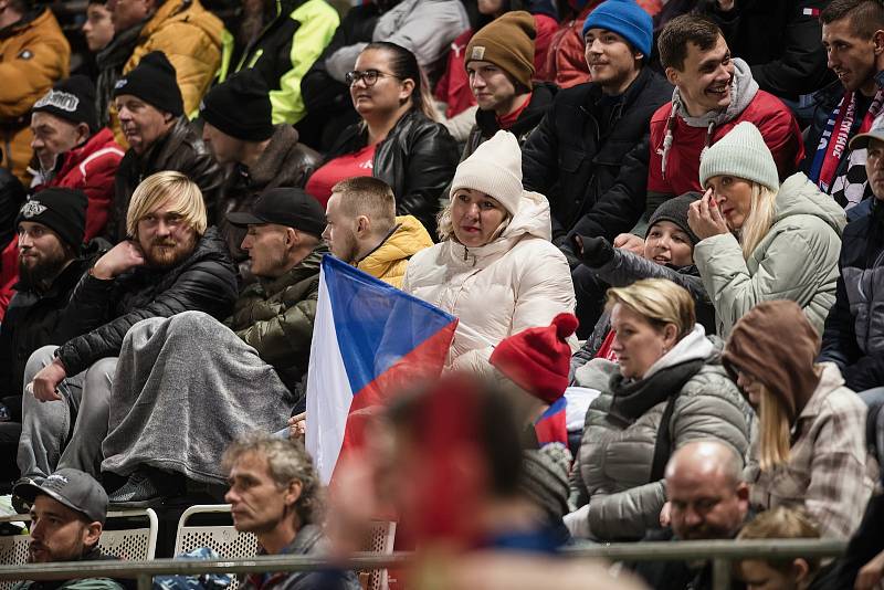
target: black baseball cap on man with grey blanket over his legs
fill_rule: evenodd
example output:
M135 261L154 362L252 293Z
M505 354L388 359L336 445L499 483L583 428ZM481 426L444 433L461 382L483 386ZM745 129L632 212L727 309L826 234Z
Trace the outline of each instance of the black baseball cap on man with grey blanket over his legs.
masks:
M319 201L303 189L276 188L261 193L251 212L228 213L232 225L262 225L276 223L322 238L325 230L325 210Z

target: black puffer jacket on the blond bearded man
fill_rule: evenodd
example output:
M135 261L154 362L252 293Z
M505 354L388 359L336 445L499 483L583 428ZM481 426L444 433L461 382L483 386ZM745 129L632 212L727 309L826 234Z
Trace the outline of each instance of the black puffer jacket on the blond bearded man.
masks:
M209 228L190 256L171 268L140 266L109 281L83 275L59 328L82 336L64 343L55 356L67 375L76 375L117 356L126 333L141 319L188 310L222 318L235 298L236 272L218 231Z

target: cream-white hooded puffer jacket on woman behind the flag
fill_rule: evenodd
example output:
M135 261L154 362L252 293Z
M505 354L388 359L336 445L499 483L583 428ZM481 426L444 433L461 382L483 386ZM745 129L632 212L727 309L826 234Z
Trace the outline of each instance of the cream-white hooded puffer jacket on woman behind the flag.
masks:
M549 203L523 192L501 235L481 247L453 236L412 256L402 291L460 319L446 368L488 373L494 346L575 308L565 255L549 242ZM570 339L571 349L576 339Z

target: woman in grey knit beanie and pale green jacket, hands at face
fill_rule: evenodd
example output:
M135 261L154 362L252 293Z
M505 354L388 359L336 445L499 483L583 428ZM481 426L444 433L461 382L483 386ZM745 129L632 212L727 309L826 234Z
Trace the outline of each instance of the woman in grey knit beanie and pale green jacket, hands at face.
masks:
M694 262L715 306L718 334L756 304L792 299L822 331L835 301L846 218L802 172L779 185L758 128L740 123L703 155L706 193L688 212Z

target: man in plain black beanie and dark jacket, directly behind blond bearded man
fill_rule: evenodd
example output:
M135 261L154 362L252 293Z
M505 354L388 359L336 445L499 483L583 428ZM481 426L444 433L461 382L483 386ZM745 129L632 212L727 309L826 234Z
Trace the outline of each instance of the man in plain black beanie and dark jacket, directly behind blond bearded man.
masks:
M212 154L185 115L175 67L162 52L145 55L114 88L123 135L129 149L114 180L114 203L106 233L116 243L127 238L126 211L133 192L155 172L176 170L202 191L209 220L215 219L223 175Z

